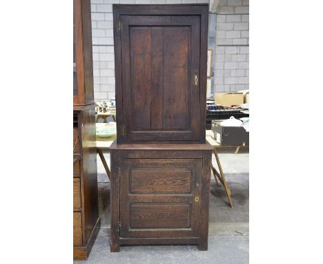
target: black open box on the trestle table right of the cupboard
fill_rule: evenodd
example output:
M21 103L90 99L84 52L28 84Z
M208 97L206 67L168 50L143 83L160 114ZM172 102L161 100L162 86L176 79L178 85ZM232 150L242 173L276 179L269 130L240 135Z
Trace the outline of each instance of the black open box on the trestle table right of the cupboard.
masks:
M249 146L249 132L242 126L222 126L212 120L212 138L222 146Z

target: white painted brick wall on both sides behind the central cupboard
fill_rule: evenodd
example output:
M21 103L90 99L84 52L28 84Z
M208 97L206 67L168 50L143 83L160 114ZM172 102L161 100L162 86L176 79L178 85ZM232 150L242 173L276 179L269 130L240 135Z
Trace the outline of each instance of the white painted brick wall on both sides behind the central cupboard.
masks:
M208 0L91 0L96 101L115 97L112 3L208 3ZM248 88L248 1L220 0L217 13L210 14L208 29L208 46L215 49L211 91Z

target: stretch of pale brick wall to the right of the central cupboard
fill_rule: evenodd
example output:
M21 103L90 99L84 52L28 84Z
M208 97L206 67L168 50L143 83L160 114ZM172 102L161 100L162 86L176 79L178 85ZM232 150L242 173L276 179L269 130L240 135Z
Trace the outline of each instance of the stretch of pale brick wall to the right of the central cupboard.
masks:
M215 92L248 89L248 0L219 0L215 54Z

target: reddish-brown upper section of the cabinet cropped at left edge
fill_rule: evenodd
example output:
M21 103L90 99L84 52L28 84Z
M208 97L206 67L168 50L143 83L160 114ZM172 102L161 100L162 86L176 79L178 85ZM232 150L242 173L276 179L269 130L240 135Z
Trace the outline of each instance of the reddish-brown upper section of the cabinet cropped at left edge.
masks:
M73 4L73 103L93 104L90 0L74 0Z

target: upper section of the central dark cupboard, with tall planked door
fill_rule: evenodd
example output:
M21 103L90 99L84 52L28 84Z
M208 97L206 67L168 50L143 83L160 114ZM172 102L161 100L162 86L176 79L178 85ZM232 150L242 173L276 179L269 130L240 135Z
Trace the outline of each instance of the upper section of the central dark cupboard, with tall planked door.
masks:
M208 5L114 5L117 142L205 142Z

